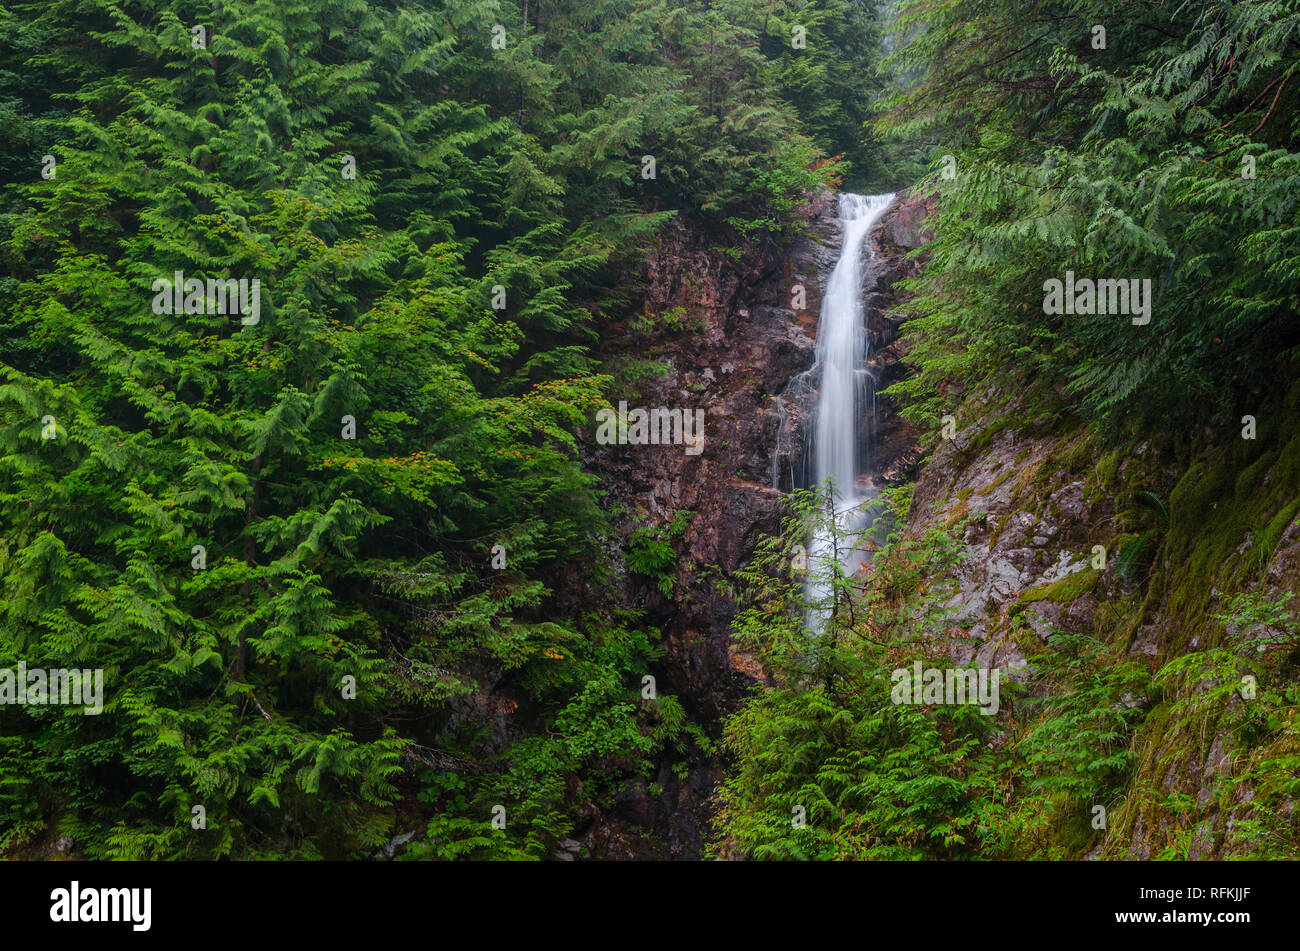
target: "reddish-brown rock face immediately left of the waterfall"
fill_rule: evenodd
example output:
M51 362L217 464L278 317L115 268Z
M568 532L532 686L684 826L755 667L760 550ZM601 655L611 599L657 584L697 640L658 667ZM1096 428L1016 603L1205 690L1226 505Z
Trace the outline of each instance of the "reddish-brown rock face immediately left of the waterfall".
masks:
M732 605L706 576L731 576L779 526L781 494L770 486L779 426L772 396L812 362L818 268L835 240L831 207L822 196L809 208L809 233L785 253L768 244L738 261L719 253L716 238L672 222L646 262L642 320L655 325L638 333L629 321L603 343L615 375L627 355L659 362L662 373L636 379L623 395L615 388L611 403L703 412L702 451L601 446L590 466L623 509L621 537L611 539L616 557L634 529L694 513L676 544L672 594L634 574L625 594L667 637L664 689L705 722L729 711L748 683L728 655ZM802 309L794 307L797 285L806 288ZM684 314L676 321L684 329L656 321L673 313Z

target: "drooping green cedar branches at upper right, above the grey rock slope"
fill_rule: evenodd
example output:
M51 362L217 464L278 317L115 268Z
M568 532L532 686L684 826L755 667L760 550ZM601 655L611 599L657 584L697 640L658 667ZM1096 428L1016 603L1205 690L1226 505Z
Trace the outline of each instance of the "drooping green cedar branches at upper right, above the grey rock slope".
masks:
M911 283L916 374L893 390L914 418L991 373L1167 434L1256 405L1297 343L1297 17L1286 0L1126 6L1093 49L1105 18L1082 0L902 5L881 125L932 143L939 196ZM1044 313L1067 269L1149 278L1150 322Z

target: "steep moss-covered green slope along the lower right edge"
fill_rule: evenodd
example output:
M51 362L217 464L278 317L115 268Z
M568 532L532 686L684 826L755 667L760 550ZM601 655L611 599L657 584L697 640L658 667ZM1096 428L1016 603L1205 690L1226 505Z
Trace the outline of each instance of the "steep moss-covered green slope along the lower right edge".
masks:
M1265 576L1300 514L1300 385L1260 420L1257 440L1231 431L1169 492L1170 527L1135 618L1158 622L1165 699L1136 737L1109 856L1296 855L1300 695L1287 653L1300 639L1274 618L1282 633L1252 640L1245 592L1280 596ZM1282 572L1291 583L1294 561Z

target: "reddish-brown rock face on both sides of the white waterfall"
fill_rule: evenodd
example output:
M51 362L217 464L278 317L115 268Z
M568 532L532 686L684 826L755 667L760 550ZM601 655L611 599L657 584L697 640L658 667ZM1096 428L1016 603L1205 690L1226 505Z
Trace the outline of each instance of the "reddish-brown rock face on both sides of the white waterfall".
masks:
M880 251L863 292L871 314L871 369L881 388L901 369L890 351L897 322L887 311L894 282L918 266L905 256L924 240L916 230L923 213L922 203L896 203L872 235ZM733 576L759 539L780 526L784 492L774 482L789 490L811 408L807 395L792 399L786 390L812 366L822 294L838 257L835 196L814 196L805 217L806 231L784 251L767 243L738 260L716 247L716 236L671 222L644 266L642 313L611 327L601 346L607 372L620 381L633 359L659 364L653 374L628 373L627 383L610 392L612 404L703 411L698 453L677 444L592 440L584 461L599 474L611 511L619 512L618 534L608 539L616 564L636 529L666 531L679 512L694 513L673 542L679 561L671 595L656 579L628 573L623 600L663 631L663 666L651 672L659 689L676 695L714 734L760 676L757 663L732 644L736 608L715 579ZM901 478L918 455L915 439L888 400L880 407L880 468ZM662 795L630 783L614 816L593 813L585 842L569 857L697 857L719 776L716 764L701 757L682 780L664 767L656 777Z

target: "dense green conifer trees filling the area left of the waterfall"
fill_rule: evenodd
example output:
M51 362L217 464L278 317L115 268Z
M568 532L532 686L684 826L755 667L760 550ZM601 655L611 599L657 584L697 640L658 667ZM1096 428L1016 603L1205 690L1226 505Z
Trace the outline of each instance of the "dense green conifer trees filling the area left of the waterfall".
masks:
M417 824L543 855L572 781L705 739L630 694L592 344L672 214L786 233L833 166L757 0L196 9L0 12L0 664L108 698L0 711L0 844L333 859ZM155 313L176 272L257 279L259 321ZM632 569L663 586L671 538ZM589 616L552 599L571 564Z

